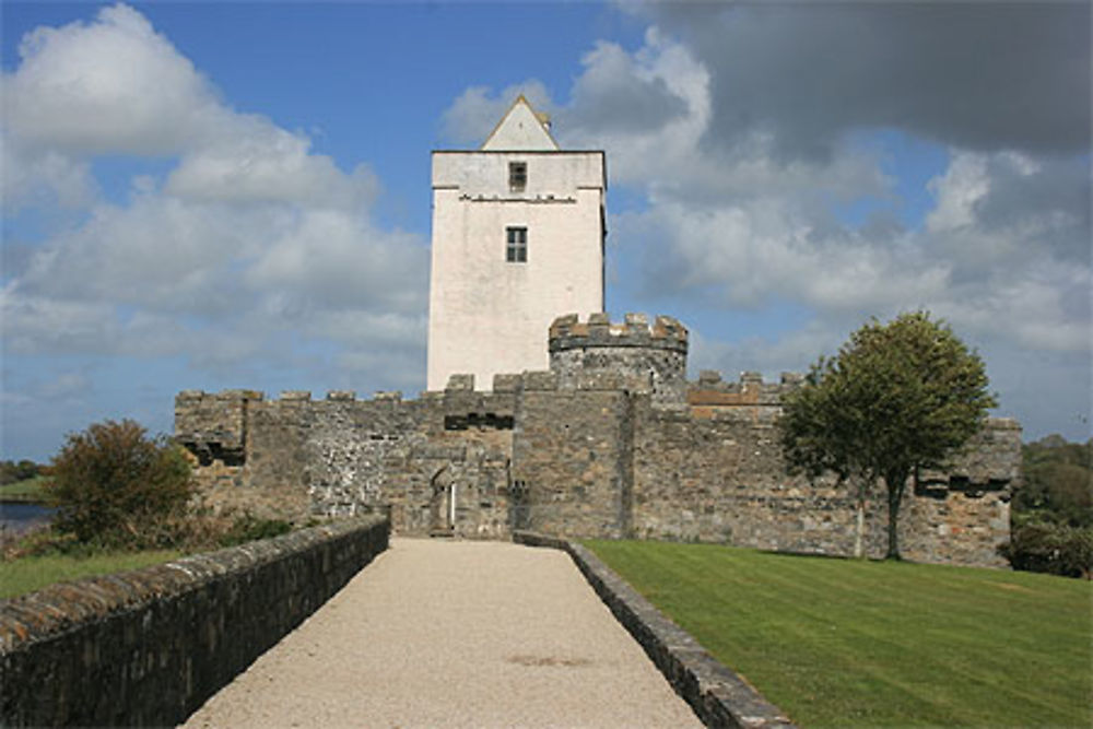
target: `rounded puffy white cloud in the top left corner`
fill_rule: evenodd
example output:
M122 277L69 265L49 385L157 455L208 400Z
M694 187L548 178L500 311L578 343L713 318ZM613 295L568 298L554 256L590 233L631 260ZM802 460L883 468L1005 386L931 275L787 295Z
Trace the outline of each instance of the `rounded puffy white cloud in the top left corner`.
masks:
M215 138L231 111L209 82L127 5L91 24L39 27L3 81L5 126L54 152L174 155Z

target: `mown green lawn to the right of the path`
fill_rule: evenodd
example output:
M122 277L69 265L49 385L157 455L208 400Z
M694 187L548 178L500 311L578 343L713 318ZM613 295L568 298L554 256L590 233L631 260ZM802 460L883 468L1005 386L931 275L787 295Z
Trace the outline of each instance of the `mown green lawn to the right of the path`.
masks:
M1093 583L589 541L799 724L1089 727Z

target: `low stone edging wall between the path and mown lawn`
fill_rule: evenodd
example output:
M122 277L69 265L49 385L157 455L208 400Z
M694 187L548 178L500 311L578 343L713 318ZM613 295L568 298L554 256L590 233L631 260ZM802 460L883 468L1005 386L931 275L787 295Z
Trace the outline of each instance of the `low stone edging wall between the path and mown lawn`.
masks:
M615 619L707 727L794 726L781 709L718 662L584 545L528 531L513 532L513 541L567 552Z

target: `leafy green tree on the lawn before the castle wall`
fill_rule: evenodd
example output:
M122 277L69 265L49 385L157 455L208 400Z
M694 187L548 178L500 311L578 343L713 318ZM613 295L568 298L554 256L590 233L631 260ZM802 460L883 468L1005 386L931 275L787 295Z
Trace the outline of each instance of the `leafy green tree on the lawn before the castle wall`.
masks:
M791 472L830 472L841 483L855 483L859 530L866 494L883 480L886 556L898 560L908 479L919 469L940 468L980 430L995 404L983 360L943 321L926 311L888 324L872 319L787 395L779 421L783 451Z

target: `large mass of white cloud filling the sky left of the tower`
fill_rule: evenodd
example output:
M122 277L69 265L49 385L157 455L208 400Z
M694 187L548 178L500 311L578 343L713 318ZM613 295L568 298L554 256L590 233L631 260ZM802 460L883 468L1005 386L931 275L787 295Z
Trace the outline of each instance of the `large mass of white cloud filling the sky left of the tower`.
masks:
M2 82L5 202L82 215L38 243L5 287L11 351L277 366L293 342L337 353L391 341L316 322L423 316L427 249L371 219L379 183L367 166L344 172L303 134L232 109L140 12L114 5L38 28L21 57ZM107 201L91 176L104 154L168 167ZM420 353L421 328L399 331Z

